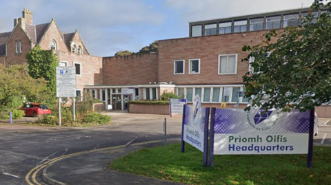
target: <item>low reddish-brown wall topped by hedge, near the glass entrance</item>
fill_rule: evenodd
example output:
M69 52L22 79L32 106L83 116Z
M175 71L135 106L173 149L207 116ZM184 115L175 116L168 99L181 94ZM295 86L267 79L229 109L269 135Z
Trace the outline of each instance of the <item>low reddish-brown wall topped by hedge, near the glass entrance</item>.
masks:
M129 105L130 113L151 113L170 115L169 105Z

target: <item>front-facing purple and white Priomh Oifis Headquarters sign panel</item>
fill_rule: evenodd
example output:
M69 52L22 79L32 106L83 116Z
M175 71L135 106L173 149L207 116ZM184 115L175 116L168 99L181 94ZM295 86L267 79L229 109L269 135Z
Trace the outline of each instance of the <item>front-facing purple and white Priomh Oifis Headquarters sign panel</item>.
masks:
M308 153L310 111L216 109L214 154Z

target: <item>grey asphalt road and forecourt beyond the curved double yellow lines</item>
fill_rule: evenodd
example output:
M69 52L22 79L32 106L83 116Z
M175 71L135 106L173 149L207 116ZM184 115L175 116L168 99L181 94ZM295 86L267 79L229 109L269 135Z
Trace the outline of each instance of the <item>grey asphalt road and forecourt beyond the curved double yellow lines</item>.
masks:
M110 113L112 125L92 128L59 128L0 124L0 184L27 184L35 166L70 153L130 143L162 140L167 117L168 138L181 137L181 116ZM25 118L26 120L33 118ZM314 144L331 146L331 121L319 120ZM40 177L39 177L39 180Z

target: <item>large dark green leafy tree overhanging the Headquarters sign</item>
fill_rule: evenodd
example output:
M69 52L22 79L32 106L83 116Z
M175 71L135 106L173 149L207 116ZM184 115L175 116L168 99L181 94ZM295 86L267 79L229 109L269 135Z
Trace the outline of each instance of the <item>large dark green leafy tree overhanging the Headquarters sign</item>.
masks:
M312 11L328 10L316 20ZM243 76L252 106L305 111L331 100L330 3L315 0L297 28L272 30L259 45L243 46L256 73ZM250 107L246 108L250 109Z

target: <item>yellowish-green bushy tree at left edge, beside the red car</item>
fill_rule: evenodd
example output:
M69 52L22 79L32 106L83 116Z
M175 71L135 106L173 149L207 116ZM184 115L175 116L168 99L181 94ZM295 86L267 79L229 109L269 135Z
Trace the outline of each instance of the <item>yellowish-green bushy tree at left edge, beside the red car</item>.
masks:
M0 65L0 110L12 111L26 102L47 102L50 89L46 80L34 79L28 74L26 65L12 65L5 68Z

